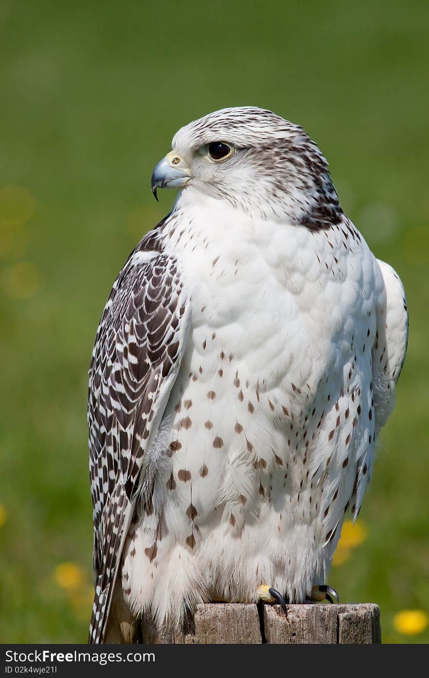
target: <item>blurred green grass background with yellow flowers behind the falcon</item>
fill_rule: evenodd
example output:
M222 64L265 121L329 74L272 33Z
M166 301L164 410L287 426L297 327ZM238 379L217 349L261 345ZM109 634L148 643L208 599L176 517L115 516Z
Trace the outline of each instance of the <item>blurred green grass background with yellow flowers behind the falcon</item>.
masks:
M86 641L98 319L169 211L149 184L173 133L253 104L319 143L407 290L396 411L329 582L380 604L385 642L428 642L428 2L1 0L0 41L0 641Z

